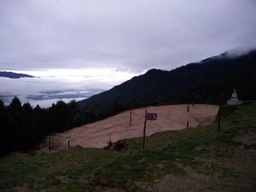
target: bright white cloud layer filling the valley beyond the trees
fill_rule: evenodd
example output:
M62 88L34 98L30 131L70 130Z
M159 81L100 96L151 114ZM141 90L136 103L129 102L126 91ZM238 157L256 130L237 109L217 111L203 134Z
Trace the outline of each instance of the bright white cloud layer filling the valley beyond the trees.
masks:
M79 71L51 69L33 71L31 74L40 78L0 78L0 100L8 104L14 96L18 96L23 103L30 102L34 107L39 104L47 108L58 100L69 102L86 99L137 75L109 69L102 72L102 69L96 68Z

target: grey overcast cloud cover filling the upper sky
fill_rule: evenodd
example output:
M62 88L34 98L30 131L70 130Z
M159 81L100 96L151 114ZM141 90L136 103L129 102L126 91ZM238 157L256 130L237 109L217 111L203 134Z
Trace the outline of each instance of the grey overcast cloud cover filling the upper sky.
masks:
M256 47L254 0L3 0L0 69L172 69Z

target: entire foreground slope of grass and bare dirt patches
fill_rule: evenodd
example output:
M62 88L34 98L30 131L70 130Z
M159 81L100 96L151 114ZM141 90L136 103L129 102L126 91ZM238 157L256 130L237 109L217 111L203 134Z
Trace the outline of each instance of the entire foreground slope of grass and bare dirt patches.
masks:
M217 125L0 159L0 191L255 191L256 103Z

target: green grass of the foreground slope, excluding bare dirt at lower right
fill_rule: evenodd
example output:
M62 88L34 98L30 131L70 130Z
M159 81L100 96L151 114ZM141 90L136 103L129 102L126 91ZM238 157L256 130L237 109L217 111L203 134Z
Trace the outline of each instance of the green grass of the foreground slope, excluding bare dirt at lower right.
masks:
M204 174L236 176L230 168L199 158L227 156L221 148L254 148L233 138L241 132L255 132L255 117L255 103L241 106L222 119L219 131L217 125L209 125L160 132L146 138L145 149L142 138L136 138L123 140L126 147L121 152L75 147L55 154L23 155L15 160L5 157L0 159L0 190L26 184L32 191L93 191L96 186L140 191L138 182L150 185L167 174L186 175L177 163Z

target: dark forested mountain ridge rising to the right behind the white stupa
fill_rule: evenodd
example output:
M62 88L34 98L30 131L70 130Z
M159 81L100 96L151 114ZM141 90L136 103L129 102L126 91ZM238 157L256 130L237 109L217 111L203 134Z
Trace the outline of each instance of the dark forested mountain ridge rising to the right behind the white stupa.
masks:
M256 50L246 55L214 56L172 71L151 69L111 90L79 102L96 106L128 108L173 102L226 102L236 88L242 100L256 98Z

